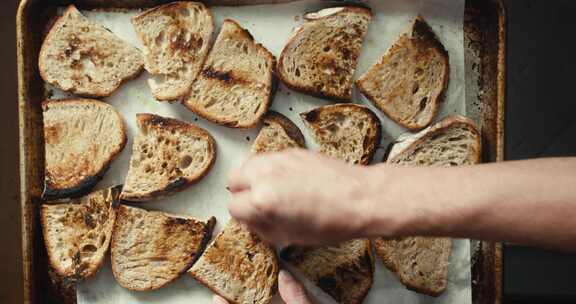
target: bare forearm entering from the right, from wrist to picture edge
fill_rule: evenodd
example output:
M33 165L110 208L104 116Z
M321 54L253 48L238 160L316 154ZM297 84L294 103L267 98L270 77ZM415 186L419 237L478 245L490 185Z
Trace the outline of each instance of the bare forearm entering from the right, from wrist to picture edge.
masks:
M438 235L576 249L575 158L371 170L387 184L371 205L370 236ZM396 218L379 212L389 210L382 204L397 205Z

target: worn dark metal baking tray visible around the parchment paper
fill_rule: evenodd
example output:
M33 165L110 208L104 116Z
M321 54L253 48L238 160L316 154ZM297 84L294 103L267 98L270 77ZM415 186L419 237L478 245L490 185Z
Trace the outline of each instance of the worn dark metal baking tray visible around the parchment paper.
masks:
M251 5L292 0L208 0L208 5ZM146 8L167 0L22 0L17 13L18 106L25 303L75 303L75 290L51 278L39 222L44 180L41 102L44 82L38 53L57 7ZM464 12L466 107L482 131L484 162L504 157L506 16L501 0L466 0ZM472 302L500 303L502 245L472 241Z

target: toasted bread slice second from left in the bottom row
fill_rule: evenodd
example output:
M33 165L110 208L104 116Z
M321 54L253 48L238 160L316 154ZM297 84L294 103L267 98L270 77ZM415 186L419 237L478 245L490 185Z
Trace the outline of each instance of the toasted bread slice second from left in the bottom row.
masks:
M198 259L212 237L214 217L202 222L157 211L119 206L112 235L112 272L136 291L176 280Z

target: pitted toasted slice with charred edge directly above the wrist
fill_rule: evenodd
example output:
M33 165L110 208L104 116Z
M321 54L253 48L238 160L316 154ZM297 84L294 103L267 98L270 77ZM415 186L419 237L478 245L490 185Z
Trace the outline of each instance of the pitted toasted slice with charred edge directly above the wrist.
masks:
M380 144L380 120L365 106L335 104L300 114L320 152L352 164L367 165Z

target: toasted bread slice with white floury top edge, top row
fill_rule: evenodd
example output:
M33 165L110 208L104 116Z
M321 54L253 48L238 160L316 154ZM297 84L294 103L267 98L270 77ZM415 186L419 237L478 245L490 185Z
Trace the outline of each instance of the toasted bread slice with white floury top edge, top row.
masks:
M372 13L361 7L334 7L309 13L282 50L278 77L306 94L350 101L352 76Z

